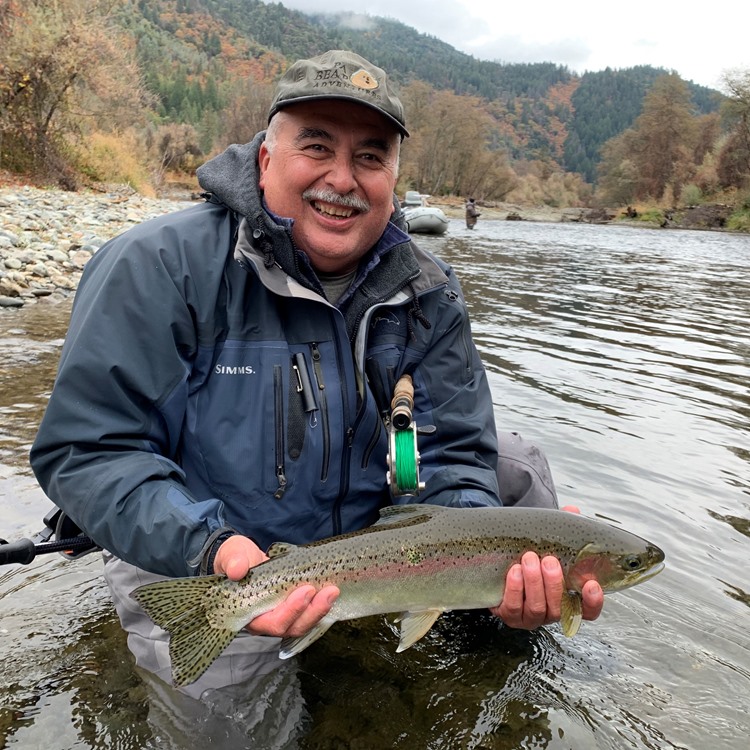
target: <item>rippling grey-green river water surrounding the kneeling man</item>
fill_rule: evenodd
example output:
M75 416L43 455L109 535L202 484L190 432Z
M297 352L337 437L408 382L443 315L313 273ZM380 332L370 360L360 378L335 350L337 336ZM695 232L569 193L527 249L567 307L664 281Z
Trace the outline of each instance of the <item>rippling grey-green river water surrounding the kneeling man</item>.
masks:
M750 238L452 221L420 241L463 281L501 429L540 443L561 503L666 552L557 626L438 621L395 654L339 623L293 673L182 705L133 665L98 556L0 569L0 748L716 748L750 736ZM41 527L27 464L69 303L0 311L0 535ZM259 694L261 697L259 698Z

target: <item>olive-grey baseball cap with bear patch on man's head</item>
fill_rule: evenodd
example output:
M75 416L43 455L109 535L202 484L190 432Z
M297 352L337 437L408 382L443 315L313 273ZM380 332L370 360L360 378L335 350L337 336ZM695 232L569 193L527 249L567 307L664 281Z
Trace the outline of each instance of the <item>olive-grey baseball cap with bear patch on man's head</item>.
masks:
M364 104L380 112L402 137L409 135L404 125L404 107L393 93L386 72L354 52L336 49L309 60L297 60L278 83L268 119L290 104L315 99Z

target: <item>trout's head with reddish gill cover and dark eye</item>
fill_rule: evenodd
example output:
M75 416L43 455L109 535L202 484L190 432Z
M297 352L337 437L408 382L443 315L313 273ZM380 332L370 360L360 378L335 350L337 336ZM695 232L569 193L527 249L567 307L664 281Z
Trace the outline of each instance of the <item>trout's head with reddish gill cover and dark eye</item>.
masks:
M637 541L590 542L582 547L566 573L568 589L581 591L586 581L596 580L605 592L622 591L660 573L664 552L645 539L633 539Z

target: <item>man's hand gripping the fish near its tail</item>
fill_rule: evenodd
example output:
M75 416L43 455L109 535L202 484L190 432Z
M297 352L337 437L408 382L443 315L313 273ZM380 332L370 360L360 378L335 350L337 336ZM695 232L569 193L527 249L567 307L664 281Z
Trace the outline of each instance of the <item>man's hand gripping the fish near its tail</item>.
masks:
M267 559L268 556L252 540L239 535L231 536L216 553L214 572L239 581L250 568ZM300 586L270 612L252 620L245 629L253 635L298 638L328 614L338 595L336 586L325 586L320 591L316 591L314 586Z

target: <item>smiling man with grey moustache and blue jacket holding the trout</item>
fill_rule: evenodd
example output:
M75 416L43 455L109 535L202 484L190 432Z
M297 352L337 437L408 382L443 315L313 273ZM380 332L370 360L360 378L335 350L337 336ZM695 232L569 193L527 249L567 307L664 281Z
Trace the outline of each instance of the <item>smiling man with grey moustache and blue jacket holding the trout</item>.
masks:
M382 70L344 51L298 61L267 132L199 169L208 202L130 230L86 268L31 461L107 550L129 646L166 681L166 634L136 586L237 580L272 542L359 529L393 502L501 504L459 283L396 208L407 135ZM435 428L419 438L416 498L385 481L383 417L405 373L417 424ZM538 627L559 619L561 593L558 561L528 553L493 611ZM298 588L189 689L278 666L278 641L257 636L302 635L337 594ZM584 617L601 606L589 582Z

